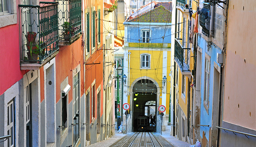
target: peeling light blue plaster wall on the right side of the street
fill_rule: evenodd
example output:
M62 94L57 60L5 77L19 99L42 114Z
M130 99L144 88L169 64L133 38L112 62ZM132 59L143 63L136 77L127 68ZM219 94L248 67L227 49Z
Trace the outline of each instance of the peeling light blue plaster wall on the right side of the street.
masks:
M213 81L214 81L214 62L217 63L217 53L221 50L214 45L211 45L209 51L207 50L207 42L203 37L198 37L198 46L202 48L202 71L201 71L201 115L200 124L210 125L212 127L212 103L213 103ZM208 113L204 108L204 83L205 83L205 54L210 56L210 83L209 83L209 109ZM218 65L219 66L219 65ZM220 67L220 66L219 66ZM203 138L203 131L205 132L206 139L209 141L209 128L201 127L200 135Z

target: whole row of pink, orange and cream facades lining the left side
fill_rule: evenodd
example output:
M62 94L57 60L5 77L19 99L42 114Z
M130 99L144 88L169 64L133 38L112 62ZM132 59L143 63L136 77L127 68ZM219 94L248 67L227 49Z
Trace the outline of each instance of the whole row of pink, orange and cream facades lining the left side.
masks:
M86 146L114 134L104 2L3 3L0 50L15 59L1 55L0 136L11 137L0 146Z

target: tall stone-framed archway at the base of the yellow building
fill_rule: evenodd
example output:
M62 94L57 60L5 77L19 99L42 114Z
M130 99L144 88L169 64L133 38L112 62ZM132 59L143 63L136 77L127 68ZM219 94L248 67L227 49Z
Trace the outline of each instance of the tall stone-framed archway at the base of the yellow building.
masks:
M147 76L140 77L134 80L130 87L130 105L132 113L132 130L133 131L156 131L156 124L150 125L149 115L153 112L154 115L159 114L159 96L160 88L158 83ZM154 105L149 105L150 101L155 102ZM154 108L153 108L154 107ZM154 111L153 111L154 110ZM145 127L143 127L143 125Z

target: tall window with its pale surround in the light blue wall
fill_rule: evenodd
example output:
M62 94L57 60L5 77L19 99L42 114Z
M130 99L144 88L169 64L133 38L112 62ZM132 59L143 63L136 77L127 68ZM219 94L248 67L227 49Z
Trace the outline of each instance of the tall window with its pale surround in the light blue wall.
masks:
M210 67L211 67L210 57L207 54L205 54L205 64L204 64L204 106L206 107L206 109L209 108Z

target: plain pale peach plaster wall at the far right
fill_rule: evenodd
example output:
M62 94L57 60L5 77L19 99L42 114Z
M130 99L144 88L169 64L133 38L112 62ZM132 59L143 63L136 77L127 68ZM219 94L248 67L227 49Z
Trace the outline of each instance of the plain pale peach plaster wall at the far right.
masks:
M255 7L254 0L229 1L223 97L223 121L253 130L256 130Z

